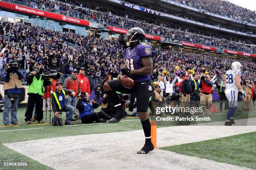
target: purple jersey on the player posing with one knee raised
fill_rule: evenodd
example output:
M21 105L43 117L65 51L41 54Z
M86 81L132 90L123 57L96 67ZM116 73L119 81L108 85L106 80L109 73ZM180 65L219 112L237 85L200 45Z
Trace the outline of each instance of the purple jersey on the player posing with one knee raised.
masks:
M125 49L124 58L127 67L131 70L138 70L143 67L141 58L151 57L152 49L146 43L140 43L135 48L128 47ZM129 75L135 82L147 81L150 79L149 74Z

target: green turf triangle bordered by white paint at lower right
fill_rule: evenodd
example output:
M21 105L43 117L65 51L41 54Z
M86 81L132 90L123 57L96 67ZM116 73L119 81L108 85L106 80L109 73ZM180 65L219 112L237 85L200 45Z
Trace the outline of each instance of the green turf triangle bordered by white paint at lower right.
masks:
M160 149L256 169L255 141L256 132L251 132Z

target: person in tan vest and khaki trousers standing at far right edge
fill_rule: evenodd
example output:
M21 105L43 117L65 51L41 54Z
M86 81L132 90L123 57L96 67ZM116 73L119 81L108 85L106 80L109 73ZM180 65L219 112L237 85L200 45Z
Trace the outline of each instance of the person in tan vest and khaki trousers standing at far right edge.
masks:
M251 107L251 88L252 85L250 84L250 80L243 80L242 88L246 93L246 97L243 97L243 110L250 110Z

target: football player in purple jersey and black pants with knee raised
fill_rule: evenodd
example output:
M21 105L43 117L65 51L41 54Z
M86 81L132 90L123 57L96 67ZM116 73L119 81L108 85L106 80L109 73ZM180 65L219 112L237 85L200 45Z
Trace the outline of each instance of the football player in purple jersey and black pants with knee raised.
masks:
M137 152L138 154L146 154L154 150L154 145L151 142L151 124L147 116L148 102L152 89L149 76L153 68L152 49L148 44L142 43L144 38L145 32L138 27L131 28L125 36L119 38L120 44L127 47L124 51L126 67L121 68L121 71L123 75L129 76L135 81L135 86L132 89L127 89L122 86L119 80L108 81L103 86L116 109L116 114L110 119L110 123L119 122L120 119L127 116L115 91L124 94L135 94L137 112L146 139L145 145Z

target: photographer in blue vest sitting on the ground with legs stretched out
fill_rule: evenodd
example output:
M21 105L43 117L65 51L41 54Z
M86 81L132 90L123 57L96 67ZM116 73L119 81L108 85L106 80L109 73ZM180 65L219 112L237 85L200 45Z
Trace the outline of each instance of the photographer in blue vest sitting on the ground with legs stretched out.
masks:
M82 123L100 123L112 119L112 117L105 114L105 112L94 112L94 109L99 106L100 104L98 102L89 100L87 92L82 93L77 102L77 109L79 110Z

